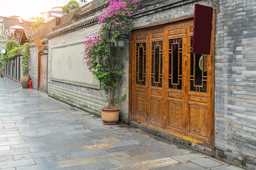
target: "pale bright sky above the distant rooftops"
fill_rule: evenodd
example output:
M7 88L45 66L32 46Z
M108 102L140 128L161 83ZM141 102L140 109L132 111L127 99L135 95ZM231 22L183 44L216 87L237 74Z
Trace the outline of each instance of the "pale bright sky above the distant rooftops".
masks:
M41 12L50 11L53 7L62 7L70 0L0 0L0 16L20 16L23 19L41 17ZM80 0L76 0L80 2ZM87 0L90 2L92 0Z

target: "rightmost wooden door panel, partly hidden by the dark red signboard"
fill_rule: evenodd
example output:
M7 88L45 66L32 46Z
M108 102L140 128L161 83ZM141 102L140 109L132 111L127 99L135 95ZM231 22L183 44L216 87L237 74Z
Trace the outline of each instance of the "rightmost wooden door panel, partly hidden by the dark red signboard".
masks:
M189 120L186 135L211 145L211 56L192 53L193 24L187 25L190 30L189 42L189 81L187 85Z

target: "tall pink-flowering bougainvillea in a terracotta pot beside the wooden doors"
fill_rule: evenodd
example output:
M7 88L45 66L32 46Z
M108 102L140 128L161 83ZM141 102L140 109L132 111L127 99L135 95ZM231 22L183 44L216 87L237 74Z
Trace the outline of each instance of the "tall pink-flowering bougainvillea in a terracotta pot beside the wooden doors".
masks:
M110 0L109 5L99 17L100 29L96 36L86 37L83 51L87 68L100 82L101 89L108 93L108 106L101 108L103 124L117 124L119 106L114 106L118 95L123 63L118 60L118 49L113 44L122 38L126 25L132 28L132 14L139 5L138 0ZM126 95L121 96L126 97ZM116 110L114 115L110 111ZM113 118L113 120L112 120Z

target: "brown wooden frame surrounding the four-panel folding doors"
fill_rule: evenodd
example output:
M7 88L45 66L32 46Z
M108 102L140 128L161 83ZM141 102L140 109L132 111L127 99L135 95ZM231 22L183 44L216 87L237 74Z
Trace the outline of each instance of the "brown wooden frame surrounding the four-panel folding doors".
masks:
M130 123L130 121L132 121L132 114L134 112L133 108L132 108L132 104L133 104L133 95L135 95L135 91L134 91L134 88L132 86L135 86L136 82L134 82L134 70L133 70L133 51L135 51L135 46L134 46L134 33L135 31L146 31L146 30L150 30L150 29L156 29L156 28L159 28L159 27L163 27L163 26L168 26L168 25L173 25L173 24L179 24L179 23L183 23L183 22L189 22L189 21L192 21L193 20L193 15L188 15L188 16L184 16L184 17L181 17L181 18L175 18L175 19L172 19L172 20L167 20L167 21L164 21L164 22L159 22L159 23L154 23L154 24L149 24L147 25L146 27L145 26L139 26L139 27L136 27L136 28L133 28L132 32L130 33L130 45L129 45L129 114L128 114L128 121ZM213 10L213 19L212 19L212 32L211 32L211 37L212 37L212 41L211 41L211 62L212 62L212 68L214 68L214 53L215 53L215 10ZM215 75L215 72L214 72L214 69L212 70L211 72L211 146L207 146L207 147L210 147L211 150L212 150L212 155L214 156L214 150L215 150L215 143L214 143L214 75ZM141 121L137 121L137 123L140 123L140 124L143 124L145 126L149 126L151 128L154 128L156 130L160 130L160 131L163 131L163 132L166 132L168 134L171 134L171 135L174 135L174 136L177 136L177 137L180 137L182 139L186 139L188 141L192 141L192 142L195 142L195 143L198 143L198 141L194 140L194 139L191 139L189 137L186 137L186 136L182 136L182 135L179 135L179 134L176 134L176 133L171 133L167 130L164 130L164 129L161 129L159 127L156 127L156 126L152 126L150 124L147 124L147 123L144 123L144 122L141 122ZM200 141L199 141L200 142ZM198 143L200 144L200 143Z

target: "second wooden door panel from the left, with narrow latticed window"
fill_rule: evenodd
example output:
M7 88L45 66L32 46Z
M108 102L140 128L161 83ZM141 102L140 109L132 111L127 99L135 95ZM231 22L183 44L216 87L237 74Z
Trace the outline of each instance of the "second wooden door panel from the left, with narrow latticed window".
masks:
M163 128L163 60L164 60L164 29L153 29L149 31L150 56L148 57L149 76L149 110L148 123Z

